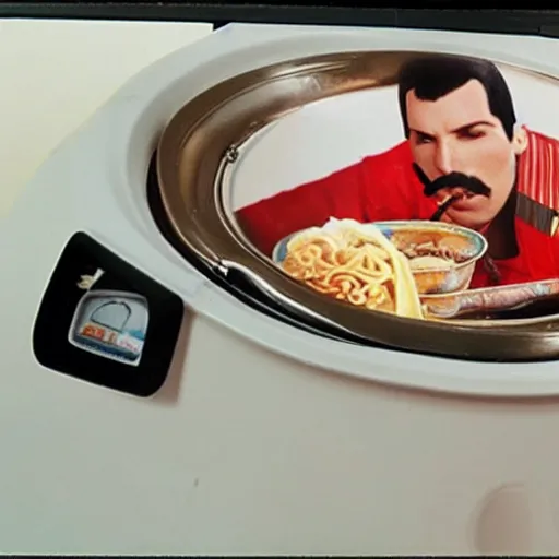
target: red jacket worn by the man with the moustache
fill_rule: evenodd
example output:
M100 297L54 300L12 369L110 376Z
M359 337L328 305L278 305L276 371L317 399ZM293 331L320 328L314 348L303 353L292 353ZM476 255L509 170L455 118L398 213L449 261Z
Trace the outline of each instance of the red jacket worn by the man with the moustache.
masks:
M526 132L528 146L519 157L518 192L533 201L534 207L558 210L559 142ZM437 205L424 195L412 163L408 143L403 142L328 177L246 206L237 212L237 218L248 238L267 255L287 235L321 226L330 217L362 223L428 219ZM534 221L536 214L527 221ZM501 284L559 277L559 236L538 230L535 221L527 221L515 217L519 255L495 262ZM489 285L480 262L472 287Z

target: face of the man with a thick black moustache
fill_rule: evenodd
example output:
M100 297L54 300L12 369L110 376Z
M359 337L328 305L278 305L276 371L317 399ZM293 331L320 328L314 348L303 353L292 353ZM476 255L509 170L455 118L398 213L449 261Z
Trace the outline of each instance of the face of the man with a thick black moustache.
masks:
M504 205L515 176L514 144L491 115L484 86L471 80L435 102L420 100L411 91L406 106L414 160L430 181L459 173L490 189L489 197L468 194L454 202L447 218L465 227L484 227ZM456 193L466 191L449 185L435 199L440 202Z

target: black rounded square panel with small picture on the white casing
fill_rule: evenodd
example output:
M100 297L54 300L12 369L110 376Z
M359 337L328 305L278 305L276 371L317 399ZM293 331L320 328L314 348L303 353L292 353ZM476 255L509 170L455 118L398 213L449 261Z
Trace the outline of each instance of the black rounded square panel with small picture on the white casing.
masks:
M165 382L183 302L85 233L69 240L33 331L49 369L139 396Z

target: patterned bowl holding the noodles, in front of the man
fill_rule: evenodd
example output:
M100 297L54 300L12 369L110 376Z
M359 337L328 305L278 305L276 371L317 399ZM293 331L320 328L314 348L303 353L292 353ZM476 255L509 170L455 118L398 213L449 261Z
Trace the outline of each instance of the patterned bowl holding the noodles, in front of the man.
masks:
M368 224L364 224L368 225ZM452 266L429 265L425 269L412 266L412 274L421 295L440 295L467 289L474 275L476 262L487 251L487 241L479 233L459 225L427 221L376 222L374 225L399 250L411 260L414 253L429 252L429 243L448 253L459 262ZM281 264L287 254L287 243L302 231L296 231L282 239L272 252L272 260ZM442 247L442 248L441 248ZM425 260L425 259L424 259ZM418 261L416 261L418 262Z

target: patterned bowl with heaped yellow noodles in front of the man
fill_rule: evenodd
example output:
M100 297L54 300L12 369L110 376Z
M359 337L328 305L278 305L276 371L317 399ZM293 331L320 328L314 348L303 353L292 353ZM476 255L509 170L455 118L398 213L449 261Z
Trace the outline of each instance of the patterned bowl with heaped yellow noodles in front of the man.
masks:
M467 289L487 241L440 222L330 219L281 240L272 260L319 293L421 318L420 299Z

